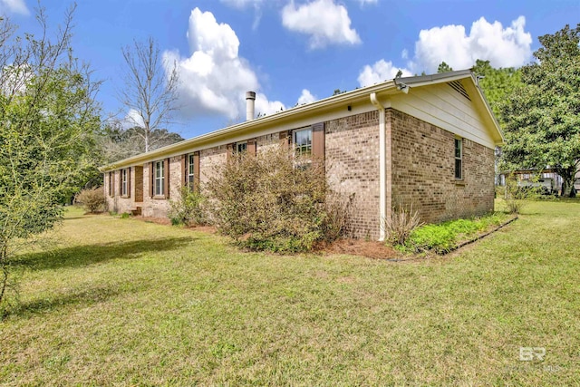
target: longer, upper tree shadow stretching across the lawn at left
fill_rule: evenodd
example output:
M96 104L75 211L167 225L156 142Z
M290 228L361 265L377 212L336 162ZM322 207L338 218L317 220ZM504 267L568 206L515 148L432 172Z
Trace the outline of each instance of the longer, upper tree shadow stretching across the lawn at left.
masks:
M17 266L26 266L31 270L91 266L111 259L133 259L149 252L175 250L188 245L196 239L196 237L169 237L64 247L52 251L18 256L13 263Z

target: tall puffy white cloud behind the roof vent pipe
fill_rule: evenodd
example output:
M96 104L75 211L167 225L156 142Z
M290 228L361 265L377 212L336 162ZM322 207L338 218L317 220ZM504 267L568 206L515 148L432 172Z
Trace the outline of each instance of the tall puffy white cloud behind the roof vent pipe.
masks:
M189 57L163 53L166 71L179 69L179 102L186 116L219 114L230 120L245 117L245 93L258 91L259 82L249 63L238 55L239 40L228 24L218 24L210 12L198 8L189 15ZM271 113L284 106L256 96L256 112Z

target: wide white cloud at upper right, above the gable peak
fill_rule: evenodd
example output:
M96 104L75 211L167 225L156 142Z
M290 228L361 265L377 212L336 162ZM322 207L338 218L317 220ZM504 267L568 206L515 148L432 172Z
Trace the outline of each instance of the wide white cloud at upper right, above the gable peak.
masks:
M444 25L421 30L415 44L414 69L437 71L441 62L454 69L466 69L477 59L495 67L519 67L530 59L532 36L524 31L526 18L519 16L510 26L488 23L481 17L471 24L469 34L463 25Z

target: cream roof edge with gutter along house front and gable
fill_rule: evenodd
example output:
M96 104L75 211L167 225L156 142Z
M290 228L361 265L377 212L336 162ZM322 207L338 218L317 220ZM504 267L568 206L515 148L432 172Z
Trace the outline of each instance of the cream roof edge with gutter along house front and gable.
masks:
M260 117L255 120L243 121L235 125L219 129L217 131L210 131L197 137L193 137L189 140L179 141L175 144L171 144L157 150L151 150L150 152L147 153L140 153L139 155L131 156L130 158L115 161L112 162L111 164L102 166L100 170L102 172L106 172L109 170L120 169L122 167L131 166L148 160L160 159L163 156L175 154L180 150L190 150L192 147L195 147L196 145L204 142L208 142L210 140L217 140L219 138L227 137L227 135L236 131L245 131L251 129L252 127L265 126L273 121L290 120L292 117L302 115L304 113L320 111L324 109L326 110L332 109L334 106L342 105L345 102L356 102L356 101L367 102L370 101L368 96L372 92L375 92L377 96L380 96L381 94L384 95L386 93L396 91L401 83L407 84L408 86L412 87L418 87L428 85L431 83L452 82L468 77L470 77L476 84L476 86L478 86L478 82L476 81L473 73L471 73L470 70L460 70L456 72L437 73L432 75L420 75L404 78L401 77L387 80L384 82L375 83L371 86L365 86L350 92L343 92L341 94L333 95L331 97L324 98L323 100L318 100L304 105L295 106L285 111L279 111L273 114L268 114L264 117ZM479 95L482 97L486 105L486 108L488 109L488 113L491 115L491 117L493 117L493 112L489 108L489 104L485 99L485 96L479 89L479 87L478 92ZM495 117L493 117L493 121L496 124L498 132L500 133L503 139L503 133L499 129L498 121L495 119Z

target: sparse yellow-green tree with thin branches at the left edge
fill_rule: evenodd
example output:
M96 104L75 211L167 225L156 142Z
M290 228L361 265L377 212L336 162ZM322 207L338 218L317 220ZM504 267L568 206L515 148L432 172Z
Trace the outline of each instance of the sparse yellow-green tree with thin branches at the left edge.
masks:
M62 219L63 200L95 171L98 83L73 58L73 11L51 37L40 9L40 39L0 21L0 305L14 251Z

